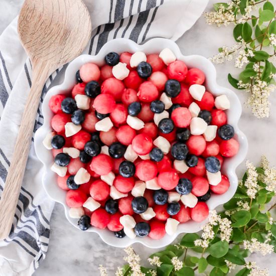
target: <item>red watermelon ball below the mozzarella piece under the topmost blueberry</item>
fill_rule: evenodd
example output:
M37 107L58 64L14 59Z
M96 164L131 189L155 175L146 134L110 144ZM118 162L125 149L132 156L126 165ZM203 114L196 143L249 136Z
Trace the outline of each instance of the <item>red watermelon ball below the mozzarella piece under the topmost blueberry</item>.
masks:
M101 93L110 94L114 97L116 101L119 101L121 99L124 88L125 88L124 84L121 80L118 80L116 78L109 78L102 83ZM100 112L100 113L109 113L109 112Z

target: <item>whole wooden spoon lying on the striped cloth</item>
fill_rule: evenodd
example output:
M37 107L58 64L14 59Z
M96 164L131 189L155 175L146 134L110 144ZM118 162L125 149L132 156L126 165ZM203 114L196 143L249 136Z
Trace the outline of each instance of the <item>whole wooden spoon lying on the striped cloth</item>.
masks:
M82 0L25 0L18 33L33 81L0 200L0 239L8 237L13 224L43 86L52 72L84 50L91 36L90 15Z

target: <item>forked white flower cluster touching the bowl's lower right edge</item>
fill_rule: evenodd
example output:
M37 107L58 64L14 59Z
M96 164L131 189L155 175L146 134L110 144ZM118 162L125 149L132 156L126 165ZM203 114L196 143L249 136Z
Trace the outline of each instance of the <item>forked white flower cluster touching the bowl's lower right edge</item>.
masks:
M219 225L221 240L226 240L227 242L230 241L232 233L231 221L227 218L221 218L215 210L212 210L209 213L209 222L202 227L203 232L201 239L194 241L196 246L201 246L203 248L207 248L209 246L209 240L212 240L215 237L215 233L213 231L214 225Z

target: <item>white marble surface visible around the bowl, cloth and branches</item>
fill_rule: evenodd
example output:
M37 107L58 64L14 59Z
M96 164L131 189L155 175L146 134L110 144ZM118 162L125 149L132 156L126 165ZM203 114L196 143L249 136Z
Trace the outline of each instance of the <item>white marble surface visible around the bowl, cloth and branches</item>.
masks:
M23 0L0 0L0 34L18 14L22 2ZM210 0L206 11L209 11L215 2L218 1ZM217 48L234 43L234 41L230 27L207 26L202 16L177 43L185 55L200 54L210 57L217 53ZM218 65L216 68L218 83L231 88L227 81L227 74L231 72L235 75L238 71L235 71L230 64ZM246 95L240 91L236 92L243 103ZM251 161L258 161L260 156L265 154L270 162L276 165L274 147L276 110L273 108L273 106L276 106L276 98L272 96L270 101L272 108L268 119L256 119L250 110L244 106L239 126L248 137L249 151L247 158ZM237 171L239 176L243 170L244 164ZM41 261L41 266L35 272L35 276L99 275L97 269L99 264L103 264L109 269L109 275L114 275L116 267L123 263L124 252L122 249L104 244L95 233L83 233L73 228L65 219L63 208L59 204L56 204L53 212L51 229L47 257ZM154 251L141 245L134 245L134 249L145 257ZM252 258L260 266L269 268L270 275L275 275L273 270L276 268L273 261L275 255L262 258L259 255L253 255Z

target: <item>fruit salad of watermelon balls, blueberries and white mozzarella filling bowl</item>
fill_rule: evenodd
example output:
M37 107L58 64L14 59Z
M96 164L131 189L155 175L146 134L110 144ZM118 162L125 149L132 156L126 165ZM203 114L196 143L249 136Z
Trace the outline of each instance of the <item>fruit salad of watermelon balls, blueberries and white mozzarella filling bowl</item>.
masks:
M166 48L115 53L76 72L67 94L51 97L52 131L43 144L81 230L117 238L174 235L208 217L206 202L229 188L223 162L239 144L227 123L227 95Z

